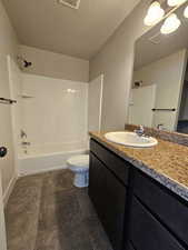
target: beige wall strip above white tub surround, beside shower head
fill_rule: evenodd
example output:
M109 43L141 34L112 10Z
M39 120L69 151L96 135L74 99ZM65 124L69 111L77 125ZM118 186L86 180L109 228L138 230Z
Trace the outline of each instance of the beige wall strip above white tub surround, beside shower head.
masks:
M20 46L20 54L32 62L24 71L44 77L61 78L72 81L89 80L89 61L53 53L32 47Z

